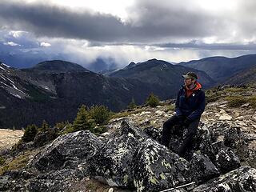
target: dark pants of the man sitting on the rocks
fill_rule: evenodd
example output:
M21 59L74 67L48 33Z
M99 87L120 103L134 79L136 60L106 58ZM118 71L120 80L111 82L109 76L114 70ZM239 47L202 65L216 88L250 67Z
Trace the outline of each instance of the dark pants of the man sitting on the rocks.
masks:
M178 128L181 128L178 120L178 117L174 115L163 123L162 145L169 147L170 134L175 134L175 132L177 132L177 130L174 130L174 126L178 125ZM179 156L183 157L186 151L190 150L191 145L193 144L193 138L198 130L199 121L200 119L197 118L193 122L190 122L190 125L187 127L188 131L186 134L186 138L184 139L184 141L182 142L182 146L178 150Z

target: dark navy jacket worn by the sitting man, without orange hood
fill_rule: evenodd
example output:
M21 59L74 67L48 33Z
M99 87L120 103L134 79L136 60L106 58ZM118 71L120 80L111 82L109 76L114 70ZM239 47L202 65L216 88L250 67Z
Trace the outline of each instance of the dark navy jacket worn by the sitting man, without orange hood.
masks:
M196 118L200 118L203 111L206 107L206 96L205 92L202 89L193 90L193 94L186 97L186 87L182 86L182 88L178 91L176 103L175 103L175 111L176 115L186 116L191 121L194 121Z

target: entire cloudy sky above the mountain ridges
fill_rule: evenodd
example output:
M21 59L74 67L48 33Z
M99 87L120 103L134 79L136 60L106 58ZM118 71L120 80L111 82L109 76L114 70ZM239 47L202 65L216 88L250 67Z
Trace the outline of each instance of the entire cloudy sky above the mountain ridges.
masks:
M254 0L1 0L0 51L62 54L86 66L256 53Z

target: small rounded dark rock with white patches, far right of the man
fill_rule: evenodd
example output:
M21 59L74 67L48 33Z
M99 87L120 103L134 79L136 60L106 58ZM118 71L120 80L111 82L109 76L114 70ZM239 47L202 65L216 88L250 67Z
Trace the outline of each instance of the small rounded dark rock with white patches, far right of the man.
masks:
M222 173L234 170L240 166L239 158L230 148L224 148L216 155L216 164Z

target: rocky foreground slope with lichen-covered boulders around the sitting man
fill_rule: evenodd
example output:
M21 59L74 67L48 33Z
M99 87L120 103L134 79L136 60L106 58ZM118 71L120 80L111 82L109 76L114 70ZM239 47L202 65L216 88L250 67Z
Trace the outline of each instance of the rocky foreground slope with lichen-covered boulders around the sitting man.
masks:
M161 191L190 183L172 191L256 191L256 112L250 104L208 103L186 158L174 153L184 132L171 138L170 149L159 144L162 124L173 114L173 101L140 106L111 119L99 137L85 130L40 148L28 143L22 146L30 151L26 165L6 171L0 190Z

